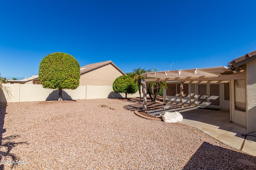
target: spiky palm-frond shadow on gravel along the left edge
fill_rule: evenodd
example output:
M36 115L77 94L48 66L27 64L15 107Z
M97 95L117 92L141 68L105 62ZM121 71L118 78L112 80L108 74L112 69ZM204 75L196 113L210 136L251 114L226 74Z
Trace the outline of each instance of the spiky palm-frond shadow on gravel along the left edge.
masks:
M12 142L12 140L18 138L18 135L15 136L9 136L3 138L3 133L6 132L6 129L4 129L4 118L6 113L6 107L8 105L6 103L0 103L0 170L4 169L4 163L3 161L16 161L19 160L18 156L16 156L13 153L10 153L10 151L19 144L28 144L27 142ZM11 168L14 168L15 164L11 165Z

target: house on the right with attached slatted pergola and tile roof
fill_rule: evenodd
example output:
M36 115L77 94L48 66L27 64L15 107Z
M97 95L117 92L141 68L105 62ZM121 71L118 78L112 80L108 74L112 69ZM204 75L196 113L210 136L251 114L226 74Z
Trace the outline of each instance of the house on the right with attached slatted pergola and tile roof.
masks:
M229 68L228 68L229 67ZM148 82L164 81L163 98L168 102L230 110L230 122L256 131L256 51L228 62L228 67L190 68L147 72L144 77L144 105Z

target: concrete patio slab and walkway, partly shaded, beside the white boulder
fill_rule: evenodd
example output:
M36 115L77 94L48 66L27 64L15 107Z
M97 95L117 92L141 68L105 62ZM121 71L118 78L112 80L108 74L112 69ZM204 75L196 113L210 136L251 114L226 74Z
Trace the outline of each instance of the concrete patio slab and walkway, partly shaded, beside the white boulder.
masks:
M184 118L180 123L196 127L226 145L256 156L256 137L249 134L244 139L242 134L246 134L246 128L229 121L229 110L190 107L171 110L155 109L147 112L158 116L165 111L178 111Z

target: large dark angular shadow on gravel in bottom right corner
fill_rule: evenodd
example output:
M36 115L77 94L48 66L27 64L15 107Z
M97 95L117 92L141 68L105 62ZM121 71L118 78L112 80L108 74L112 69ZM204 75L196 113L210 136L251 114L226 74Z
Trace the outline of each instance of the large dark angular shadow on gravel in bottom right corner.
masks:
M210 143L204 142L200 148L190 158L183 170L213 170L213 169L247 169L255 168L246 166L238 159L249 160L250 162L256 163L256 157L238 152L235 150L226 149Z

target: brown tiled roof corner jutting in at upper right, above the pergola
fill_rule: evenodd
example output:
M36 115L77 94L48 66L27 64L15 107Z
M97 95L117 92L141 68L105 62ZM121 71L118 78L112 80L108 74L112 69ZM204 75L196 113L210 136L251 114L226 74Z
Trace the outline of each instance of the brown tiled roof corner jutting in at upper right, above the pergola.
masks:
M238 57L234 59L233 61L228 62L228 66L230 68L237 68L245 63L248 63L249 61L256 59L256 50L252 51L246 55L243 55L241 57Z

